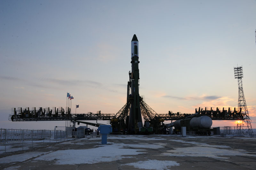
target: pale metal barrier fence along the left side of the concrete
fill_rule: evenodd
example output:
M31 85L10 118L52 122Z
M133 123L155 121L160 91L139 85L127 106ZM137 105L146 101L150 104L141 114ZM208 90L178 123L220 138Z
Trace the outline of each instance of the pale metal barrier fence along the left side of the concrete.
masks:
M84 132L66 130L0 129L0 154L44 147L84 137Z

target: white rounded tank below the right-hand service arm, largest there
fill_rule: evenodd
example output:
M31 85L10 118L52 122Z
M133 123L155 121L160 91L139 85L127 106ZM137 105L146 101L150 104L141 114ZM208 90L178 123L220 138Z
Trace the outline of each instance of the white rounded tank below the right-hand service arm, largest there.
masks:
M209 116L195 117L190 120L191 128L211 128L212 119Z

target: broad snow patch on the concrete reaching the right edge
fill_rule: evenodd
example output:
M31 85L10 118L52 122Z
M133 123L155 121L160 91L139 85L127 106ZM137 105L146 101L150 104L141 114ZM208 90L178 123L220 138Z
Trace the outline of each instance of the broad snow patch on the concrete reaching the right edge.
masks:
M208 157L215 159L227 159L226 157L220 156L254 156L256 157L256 152L247 152L242 149L237 150L227 150L218 149L212 147L186 147L186 148L174 148L174 150L167 151L169 153L163 153L166 156L189 156L189 157ZM171 152L171 153L170 153ZM250 154L249 154L250 153Z

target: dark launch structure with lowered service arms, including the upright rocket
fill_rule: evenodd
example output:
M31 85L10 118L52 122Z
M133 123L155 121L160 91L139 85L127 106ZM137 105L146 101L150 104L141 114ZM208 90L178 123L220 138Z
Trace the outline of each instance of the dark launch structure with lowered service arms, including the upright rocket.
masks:
M53 107L35 107L29 108L12 108L12 114L9 115L9 120L12 121L60 121L68 120L75 127L76 122L83 123L81 120L108 120L112 125L113 132L127 131L129 134L141 134L149 132L159 134L173 124L165 125L164 120L183 120L182 126L186 126L194 131L200 131L200 125L191 128L190 121L192 118L208 116L210 120L244 120L245 113L241 112L241 108L232 111L230 108L216 110L205 107L203 110L199 108L194 114L181 114L169 111L168 114L157 114L148 104L145 103L143 97L139 94L139 41L134 34L131 41L131 64L132 71L129 72L129 81L127 83L127 101L126 104L116 114L102 114L98 111L97 114L89 112L87 114L71 114L70 108ZM143 120L142 120L143 119ZM143 124L144 123L144 124ZM85 123L86 124L86 123ZM176 128L176 127L175 127ZM209 128L208 128L209 129ZM207 128L204 129L207 131Z

